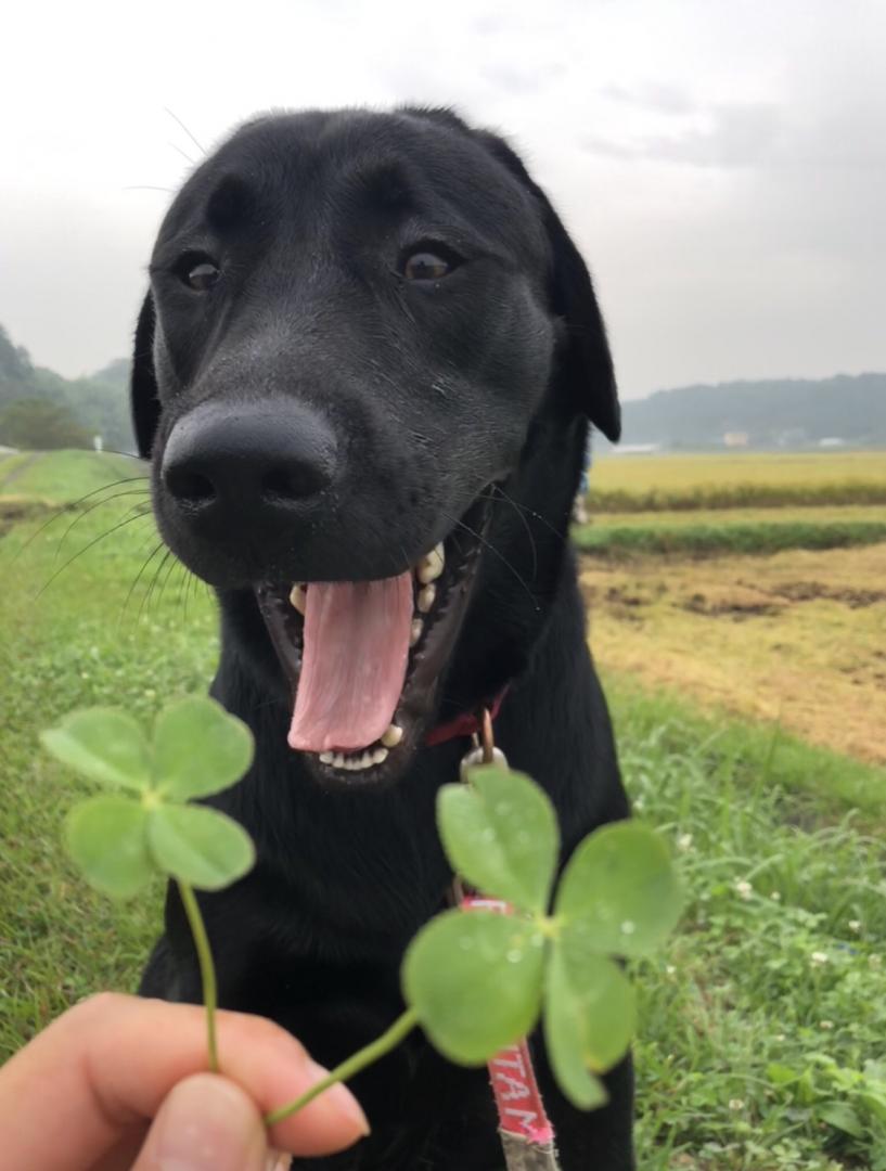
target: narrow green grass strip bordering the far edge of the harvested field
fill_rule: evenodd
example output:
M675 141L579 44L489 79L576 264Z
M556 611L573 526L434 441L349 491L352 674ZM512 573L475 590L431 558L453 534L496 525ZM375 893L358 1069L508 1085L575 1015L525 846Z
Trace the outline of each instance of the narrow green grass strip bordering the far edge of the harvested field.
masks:
M782 549L845 549L886 540L884 521L757 521L749 525L621 525L597 522L573 530L582 553L607 557L681 554L714 557L723 554L765 555Z

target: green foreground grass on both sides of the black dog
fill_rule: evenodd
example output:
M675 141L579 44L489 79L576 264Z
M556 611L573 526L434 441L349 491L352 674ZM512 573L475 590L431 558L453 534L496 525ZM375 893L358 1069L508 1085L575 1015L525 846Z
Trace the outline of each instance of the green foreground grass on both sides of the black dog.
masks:
M144 718L205 690L205 591L177 569L164 586L157 554L127 601L156 535L149 518L110 530L142 499L83 514L61 549L74 514L0 541L0 1056L79 997L131 989L158 930L159 889L121 911L75 876L61 827L86 787L36 741L71 707ZM882 769L606 682L638 814L688 891L673 944L636 971L640 1166L885 1171Z

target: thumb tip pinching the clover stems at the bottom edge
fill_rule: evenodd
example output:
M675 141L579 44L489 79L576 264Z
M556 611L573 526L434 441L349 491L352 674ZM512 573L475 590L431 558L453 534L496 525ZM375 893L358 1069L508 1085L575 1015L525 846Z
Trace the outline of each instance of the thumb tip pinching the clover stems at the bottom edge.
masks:
M265 1171L255 1103L234 1082L195 1074L170 1090L132 1171Z

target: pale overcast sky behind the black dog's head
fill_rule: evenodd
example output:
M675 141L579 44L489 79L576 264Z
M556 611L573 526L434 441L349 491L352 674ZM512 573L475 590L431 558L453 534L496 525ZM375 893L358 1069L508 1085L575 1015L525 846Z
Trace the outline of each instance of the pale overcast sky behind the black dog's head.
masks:
M885 0L13 0L0 323L68 376L124 355L191 135L411 101L524 152L626 397L884 370L885 62Z

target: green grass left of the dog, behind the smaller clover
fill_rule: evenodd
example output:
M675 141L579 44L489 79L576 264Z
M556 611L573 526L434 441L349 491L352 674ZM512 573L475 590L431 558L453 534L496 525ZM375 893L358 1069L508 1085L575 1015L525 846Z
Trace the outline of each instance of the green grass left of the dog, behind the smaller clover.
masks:
M98 507L70 532L76 514L61 513L27 543L41 516L0 541L0 1060L80 997L134 989L159 926L159 889L120 910L64 858L64 813L89 789L36 739L73 707L145 718L211 678L216 621L203 587L185 596L182 571L161 570L157 554L128 600L157 546L150 519L111 532L130 504Z

